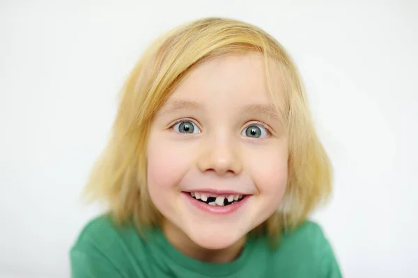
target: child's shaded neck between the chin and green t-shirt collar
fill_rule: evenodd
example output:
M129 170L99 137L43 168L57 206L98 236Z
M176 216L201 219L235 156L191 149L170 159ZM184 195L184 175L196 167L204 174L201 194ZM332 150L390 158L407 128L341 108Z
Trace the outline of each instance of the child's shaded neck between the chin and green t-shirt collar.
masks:
M224 249L210 250L196 245L183 231L168 221L163 222L162 231L167 240L178 251L193 259L210 263L228 263L234 261L240 255L246 240L243 237L238 242Z

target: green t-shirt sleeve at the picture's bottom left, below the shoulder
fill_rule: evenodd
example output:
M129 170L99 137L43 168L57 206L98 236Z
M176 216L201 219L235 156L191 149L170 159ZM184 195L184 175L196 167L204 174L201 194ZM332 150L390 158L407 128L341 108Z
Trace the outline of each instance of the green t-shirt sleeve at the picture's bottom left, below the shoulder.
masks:
M107 278L125 277L109 263L85 254L79 250L70 252L71 278Z

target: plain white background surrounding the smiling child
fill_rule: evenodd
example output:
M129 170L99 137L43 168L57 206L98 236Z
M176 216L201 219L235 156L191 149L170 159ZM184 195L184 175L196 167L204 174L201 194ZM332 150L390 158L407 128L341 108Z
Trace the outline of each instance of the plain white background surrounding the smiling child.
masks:
M344 277L418 277L418 1L0 1L0 277L69 277L79 195L144 48L191 19L264 28L335 167L314 215Z

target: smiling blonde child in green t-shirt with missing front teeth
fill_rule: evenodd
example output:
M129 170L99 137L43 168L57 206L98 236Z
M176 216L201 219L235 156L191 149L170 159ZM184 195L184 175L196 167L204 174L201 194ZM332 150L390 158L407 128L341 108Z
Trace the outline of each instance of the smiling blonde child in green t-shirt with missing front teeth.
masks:
M283 47L231 19L180 26L123 88L86 187L109 213L72 247L72 277L341 277L306 220L330 183Z

